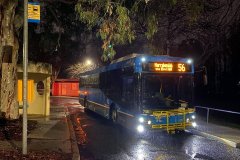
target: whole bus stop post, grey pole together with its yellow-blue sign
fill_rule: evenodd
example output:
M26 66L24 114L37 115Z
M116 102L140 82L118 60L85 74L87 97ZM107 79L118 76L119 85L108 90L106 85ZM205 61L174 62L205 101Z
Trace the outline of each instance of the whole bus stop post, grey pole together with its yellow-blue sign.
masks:
M40 3L24 0L24 30L23 30L23 130L22 154L27 154L27 82L28 82L28 22L40 23Z

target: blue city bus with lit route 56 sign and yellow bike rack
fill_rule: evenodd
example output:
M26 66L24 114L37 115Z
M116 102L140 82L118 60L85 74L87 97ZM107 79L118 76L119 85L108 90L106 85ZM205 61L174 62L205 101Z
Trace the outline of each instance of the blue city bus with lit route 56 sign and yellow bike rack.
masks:
M131 54L80 74L84 109L142 133L195 127L191 59Z

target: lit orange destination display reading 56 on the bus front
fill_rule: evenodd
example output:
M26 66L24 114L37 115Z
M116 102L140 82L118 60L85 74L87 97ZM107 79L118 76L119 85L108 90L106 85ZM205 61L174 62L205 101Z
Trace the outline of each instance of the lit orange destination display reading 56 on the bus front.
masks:
M151 62L144 65L143 70L151 72L191 72L191 66L182 62Z

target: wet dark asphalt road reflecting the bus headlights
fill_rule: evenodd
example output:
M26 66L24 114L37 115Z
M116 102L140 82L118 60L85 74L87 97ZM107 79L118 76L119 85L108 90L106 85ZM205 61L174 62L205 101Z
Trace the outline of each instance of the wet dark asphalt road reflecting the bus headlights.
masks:
M71 99L65 104L75 126L81 160L240 160L240 149L191 133L138 136L71 105L77 102Z

